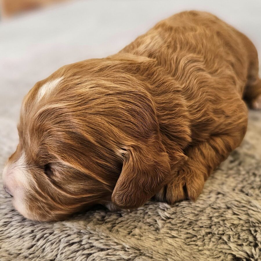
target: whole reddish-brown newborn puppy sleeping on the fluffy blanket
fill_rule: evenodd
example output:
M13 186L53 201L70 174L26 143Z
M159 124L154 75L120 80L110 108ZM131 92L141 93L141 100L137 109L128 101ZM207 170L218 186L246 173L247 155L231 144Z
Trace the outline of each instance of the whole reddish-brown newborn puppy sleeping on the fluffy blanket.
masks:
M132 209L201 193L261 108L251 41L206 12L160 21L116 55L66 65L23 100L3 171L26 218Z

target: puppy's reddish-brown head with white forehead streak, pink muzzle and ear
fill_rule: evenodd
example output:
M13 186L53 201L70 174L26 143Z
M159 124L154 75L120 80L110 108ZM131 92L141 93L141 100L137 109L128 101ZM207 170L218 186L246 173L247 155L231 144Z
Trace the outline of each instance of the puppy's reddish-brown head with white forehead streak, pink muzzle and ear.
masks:
M153 101L115 68L106 59L64 66L24 98L3 181L26 218L60 220L93 204L135 208L166 182Z

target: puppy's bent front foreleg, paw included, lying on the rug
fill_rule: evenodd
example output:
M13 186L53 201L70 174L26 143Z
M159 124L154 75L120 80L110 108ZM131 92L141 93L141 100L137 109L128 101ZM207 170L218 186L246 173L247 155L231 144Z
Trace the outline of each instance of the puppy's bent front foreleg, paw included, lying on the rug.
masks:
M228 157L235 147L232 143L228 135L219 135L190 147L186 151L187 161L167 185L166 200L170 203L186 198L195 200L210 173Z

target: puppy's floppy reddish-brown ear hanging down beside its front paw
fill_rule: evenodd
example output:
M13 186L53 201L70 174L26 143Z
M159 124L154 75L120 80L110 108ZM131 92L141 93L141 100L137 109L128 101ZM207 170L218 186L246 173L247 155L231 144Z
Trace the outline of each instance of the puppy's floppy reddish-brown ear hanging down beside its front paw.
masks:
M160 141L130 148L112 194L122 209L143 205L168 181L170 164Z

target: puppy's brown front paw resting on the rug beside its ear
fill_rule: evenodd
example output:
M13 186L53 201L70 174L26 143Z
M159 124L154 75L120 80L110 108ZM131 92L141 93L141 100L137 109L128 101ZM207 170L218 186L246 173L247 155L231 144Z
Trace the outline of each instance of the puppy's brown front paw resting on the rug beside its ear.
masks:
M190 199L195 201L203 190L204 175L195 171L180 171L166 186L166 200L174 202Z

